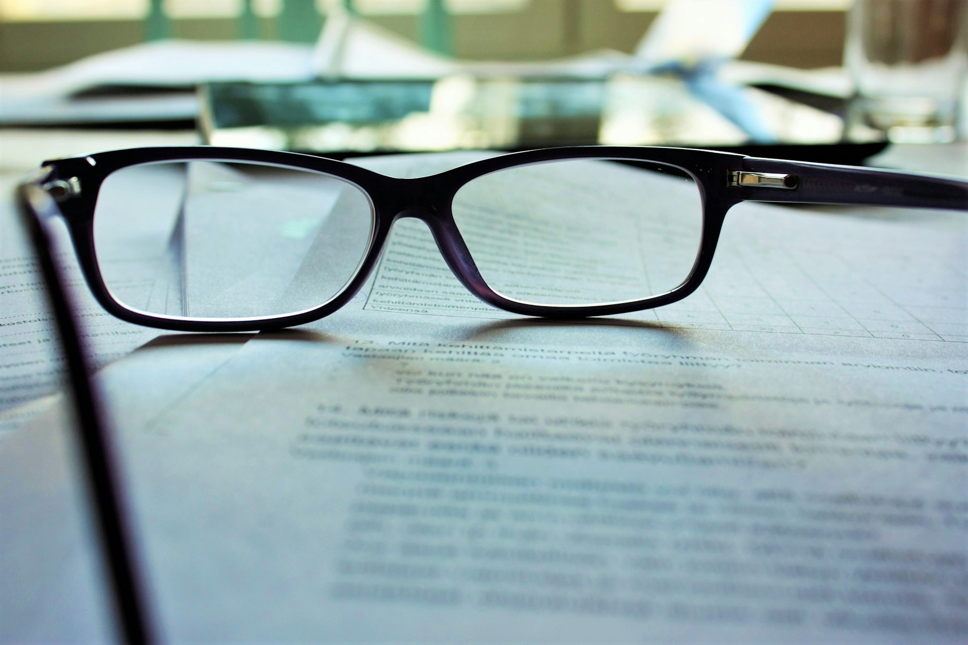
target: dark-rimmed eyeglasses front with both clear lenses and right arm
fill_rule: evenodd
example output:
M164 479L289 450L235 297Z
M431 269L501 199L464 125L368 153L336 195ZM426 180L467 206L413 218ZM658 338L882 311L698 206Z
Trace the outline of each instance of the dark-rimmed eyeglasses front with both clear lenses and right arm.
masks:
M566 147L387 177L342 161L232 148L142 148L45 162L20 187L62 216L98 302L178 331L266 330L343 307L391 227L415 218L469 291L574 318L668 305L710 269L741 201L968 210L968 182L679 148ZM396 242L388 279L427 282Z

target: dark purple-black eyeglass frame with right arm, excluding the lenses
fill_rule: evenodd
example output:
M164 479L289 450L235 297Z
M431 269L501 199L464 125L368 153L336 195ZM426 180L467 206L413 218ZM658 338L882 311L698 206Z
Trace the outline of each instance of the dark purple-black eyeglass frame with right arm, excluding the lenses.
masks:
M590 306L536 305L506 298L488 286L454 221L451 205L464 185L483 175L548 161L610 160L672 166L689 175L700 191L703 229L688 278L649 298ZM327 174L347 181L370 199L374 225L355 275L329 301L294 313L252 318L190 318L128 308L107 289L94 245L98 192L106 178L125 167L162 161L240 161ZM430 228L447 266L477 298L513 313L545 318L581 318L627 313L680 301L706 278L726 213L742 201L866 204L968 210L968 182L909 172L780 161L686 148L574 146L511 153L412 179L387 177L344 161L299 153L209 146L136 148L45 161L32 180L54 199L71 234L77 259L98 303L127 322L182 332L243 332L302 325L346 305L373 272L396 220L416 218ZM133 195L136 197L136 195ZM607 195L603 195L607 198ZM29 201L21 202L29 208ZM36 217L40 213L34 212Z

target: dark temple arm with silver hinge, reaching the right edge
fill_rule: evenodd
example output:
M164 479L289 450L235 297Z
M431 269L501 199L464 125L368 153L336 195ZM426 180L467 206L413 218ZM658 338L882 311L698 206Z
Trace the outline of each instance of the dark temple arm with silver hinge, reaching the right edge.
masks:
M727 177L749 201L968 211L968 182L909 172L747 157ZM763 178L762 175L770 175Z

